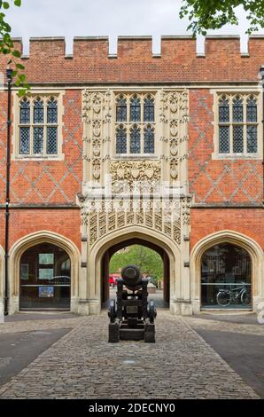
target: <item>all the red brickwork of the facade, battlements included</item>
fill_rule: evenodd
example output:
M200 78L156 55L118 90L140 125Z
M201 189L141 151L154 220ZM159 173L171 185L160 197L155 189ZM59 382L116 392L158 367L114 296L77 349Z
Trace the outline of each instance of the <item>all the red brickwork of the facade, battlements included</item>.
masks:
M21 45L19 45L21 48ZM34 41L23 59L29 83L190 83L258 81L264 40L251 39L250 56L241 57L237 39L206 40L206 58L198 58L192 39L163 39L153 58L149 39L121 39L116 59L108 58L105 39L76 40L74 57L65 58L64 41ZM0 70L7 59L0 57ZM44 68L44 70L43 70ZM12 161L12 203L73 204L82 182L82 92L66 90L63 152L65 161ZM0 94L0 203L4 204L6 93ZM261 161L212 161L213 96L190 90L190 192L200 203L254 203L262 200ZM66 176L66 177L65 177ZM4 245L4 210L0 212ZM18 209L11 213L11 245L37 230L65 235L80 247L77 209ZM192 209L191 245L209 233L232 229L264 247L261 209Z

